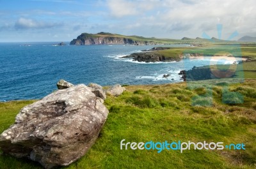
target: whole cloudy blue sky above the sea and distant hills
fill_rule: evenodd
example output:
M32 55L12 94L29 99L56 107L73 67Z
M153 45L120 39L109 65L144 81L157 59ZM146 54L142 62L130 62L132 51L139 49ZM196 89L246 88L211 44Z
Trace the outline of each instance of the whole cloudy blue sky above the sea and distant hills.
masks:
M255 0L0 0L0 41L109 32L157 38L256 36Z

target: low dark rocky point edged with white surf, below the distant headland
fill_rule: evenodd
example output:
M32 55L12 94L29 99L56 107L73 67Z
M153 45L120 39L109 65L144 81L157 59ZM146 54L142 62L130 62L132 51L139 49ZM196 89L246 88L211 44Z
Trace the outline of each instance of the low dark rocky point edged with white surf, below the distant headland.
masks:
M131 55L126 55L122 58L129 58L129 57L131 57L133 61L138 61L138 62L171 62L171 61L181 60L173 57L164 57L163 55L157 54L156 52L134 53Z

